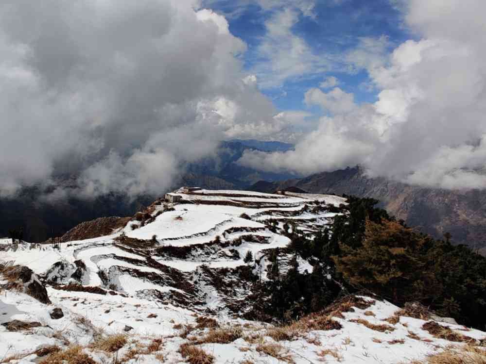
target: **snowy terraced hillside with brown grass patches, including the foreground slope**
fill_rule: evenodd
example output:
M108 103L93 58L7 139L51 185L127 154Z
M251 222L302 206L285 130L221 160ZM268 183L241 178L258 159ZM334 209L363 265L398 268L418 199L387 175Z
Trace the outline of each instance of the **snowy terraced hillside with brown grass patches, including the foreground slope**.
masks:
M280 276L296 266L309 280L318 269L325 286L335 284L329 266L288 248L287 231L312 239L347 214L345 199L185 188L171 198L121 228L83 225L102 234L113 223L108 235L59 246L0 241L2 362L412 363L464 348L481 354L473 346L485 332L370 295L341 296L277 325L261 289L277 262Z

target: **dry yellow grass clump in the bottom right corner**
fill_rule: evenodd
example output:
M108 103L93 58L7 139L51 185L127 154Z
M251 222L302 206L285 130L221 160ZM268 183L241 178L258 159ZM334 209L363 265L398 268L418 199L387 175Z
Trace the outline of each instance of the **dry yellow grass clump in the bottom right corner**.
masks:
M413 361L410 364L486 364L486 350L470 345L451 347L429 356L425 361Z

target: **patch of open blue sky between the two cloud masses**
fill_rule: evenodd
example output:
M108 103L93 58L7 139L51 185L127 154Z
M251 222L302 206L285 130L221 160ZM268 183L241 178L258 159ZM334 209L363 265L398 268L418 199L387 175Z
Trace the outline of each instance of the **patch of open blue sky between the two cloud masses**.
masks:
M282 111L306 110L318 114L316 107L305 105L304 94L330 76L338 80L336 86L353 93L357 103L376 101L378 90L370 87L365 67L354 65L346 59L347 54L360 48L363 38L381 39L380 57L384 58L398 44L413 38L403 25L403 13L391 0L209 0L205 5L225 15L230 32L247 44L248 50L243 54L245 69L257 74L260 90ZM305 6L311 10L302 11ZM278 25L274 20L285 11L295 16L290 34L272 39L268 23ZM286 77L272 67L272 60L262 55L262 47L269 41L277 47L281 42L283 47L296 39L315 58L327 62L314 65L308 61L308 67ZM303 63L308 56L302 55ZM298 59L295 61L298 64Z

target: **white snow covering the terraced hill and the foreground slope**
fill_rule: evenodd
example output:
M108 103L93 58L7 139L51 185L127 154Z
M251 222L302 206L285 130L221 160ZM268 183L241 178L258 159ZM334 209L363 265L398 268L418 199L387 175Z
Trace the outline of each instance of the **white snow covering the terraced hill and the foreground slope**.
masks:
M84 352L99 364L180 363L188 361L178 352L181 344L194 342L214 363L407 363L451 344L423 330L423 320L402 316L396 323L383 321L399 310L386 301L334 316L341 329L299 329L292 338L276 341L269 334L271 326L243 320L238 311L252 303L249 283L237 274L246 265L243 258L252 252L252 271L265 281L269 252L290 242L283 226L303 232L322 229L336 215L326 205L339 206L345 200L227 190L175 193L180 203L159 201L145 220L134 217L111 235L62 243L59 249L0 239L0 263L31 268L46 282L52 301L43 304L21 289L0 292L0 324L38 323L23 331L0 325L0 363L39 363L35 350L75 344L86 347ZM290 256L281 259L284 270ZM309 261L297 261L300 271L312 272ZM64 317L52 318L54 308ZM225 330L239 328L239 338L204 342L212 329L195 328L200 316L216 319ZM376 331L353 319L392 329ZM474 339L486 337L481 331L448 326ZM185 330L191 331L187 337ZM116 354L96 347L99 337L120 333L128 341ZM148 352L144 345L154 338L161 338L161 345ZM137 354L128 355L135 348Z

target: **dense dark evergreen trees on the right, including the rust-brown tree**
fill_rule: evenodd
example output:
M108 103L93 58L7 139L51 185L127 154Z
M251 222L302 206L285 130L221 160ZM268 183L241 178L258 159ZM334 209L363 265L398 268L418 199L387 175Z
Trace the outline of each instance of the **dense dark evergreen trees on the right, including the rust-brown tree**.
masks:
M438 314L479 329L486 327L486 258L466 246L396 222L376 200L348 200L336 217L329 249L337 271L357 289L367 288L396 304L419 301Z

